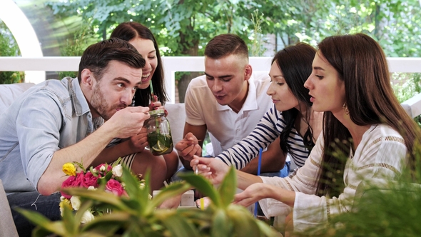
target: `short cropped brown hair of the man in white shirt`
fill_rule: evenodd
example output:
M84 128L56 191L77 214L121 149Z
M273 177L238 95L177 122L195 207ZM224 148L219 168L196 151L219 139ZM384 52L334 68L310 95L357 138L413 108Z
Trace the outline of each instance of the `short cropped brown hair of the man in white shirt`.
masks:
M220 34L213 37L205 48L205 56L210 59L220 59L225 56L236 54L248 59L247 45L235 34Z

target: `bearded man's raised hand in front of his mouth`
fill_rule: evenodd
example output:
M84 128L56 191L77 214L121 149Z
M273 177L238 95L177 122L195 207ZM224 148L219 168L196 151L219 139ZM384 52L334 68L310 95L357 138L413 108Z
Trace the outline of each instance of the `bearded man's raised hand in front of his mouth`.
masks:
M117 111L103 126L110 126L116 138L128 138L141 133L143 123L149 119L148 107L126 107Z

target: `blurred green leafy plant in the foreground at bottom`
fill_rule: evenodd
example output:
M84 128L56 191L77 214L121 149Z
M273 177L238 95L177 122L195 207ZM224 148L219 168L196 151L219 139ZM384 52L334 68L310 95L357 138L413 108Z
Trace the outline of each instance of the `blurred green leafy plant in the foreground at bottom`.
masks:
M123 170L123 182L126 183L128 197L114 196L105 191L69 188L72 196L82 200L81 208L73 214L64 208L61 221L49 221L44 216L32 211L19 209L26 218L37 225L34 236L46 236L54 233L58 236L278 236L279 233L262 221L253 218L242 206L233 205L235 193L235 169L231 168L220 188L192 173L181 178L184 182L172 183L157 196L150 199L149 186L141 188L138 180L128 169ZM146 183L149 183L146 174ZM163 201L181 195L196 187L206 194L212 203L205 210L198 208L160 209ZM84 211L92 205L96 208L109 208L111 213L96 217L81 226Z

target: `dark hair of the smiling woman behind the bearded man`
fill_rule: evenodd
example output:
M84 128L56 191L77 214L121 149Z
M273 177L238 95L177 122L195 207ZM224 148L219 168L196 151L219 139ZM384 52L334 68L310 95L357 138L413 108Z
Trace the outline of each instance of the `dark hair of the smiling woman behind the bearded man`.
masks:
M153 46L156 50L156 59L158 61L158 65L156 66L155 72L153 73L151 79L153 94L158 96L158 101L160 101L161 104L165 104L166 101L168 101L168 96L166 94L163 81L163 65L161 61L161 55L159 54L158 44L156 43L156 39L153 36L151 30L137 22L128 21L119 24L116 29L113 30L113 33L111 33L111 37L124 39L126 41L131 41L132 39L136 39L136 37L138 37L141 39L150 39L153 42ZM136 90L134 95L135 106L148 106L150 100L151 89L149 87L147 89Z

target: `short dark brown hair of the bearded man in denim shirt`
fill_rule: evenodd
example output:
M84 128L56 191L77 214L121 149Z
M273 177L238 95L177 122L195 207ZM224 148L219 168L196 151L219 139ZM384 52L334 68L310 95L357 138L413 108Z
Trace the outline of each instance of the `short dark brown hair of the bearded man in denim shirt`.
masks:
M111 38L88 46L83 51L79 63L78 81L81 82L83 69L89 69L97 80L101 79L110 61L119 61L133 69L143 69L145 59L130 43L123 39Z

